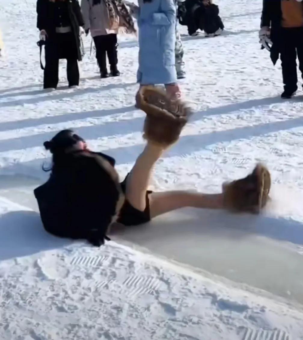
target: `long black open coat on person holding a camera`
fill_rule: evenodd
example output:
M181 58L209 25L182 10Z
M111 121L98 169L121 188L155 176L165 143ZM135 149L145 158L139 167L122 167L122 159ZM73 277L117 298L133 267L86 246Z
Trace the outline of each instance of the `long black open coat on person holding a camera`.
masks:
M63 4L67 2L67 4ZM71 23L72 32L76 40L77 45L77 57L78 60L82 60L80 50L80 39L79 39L79 27L84 27L84 20L81 13L81 8L77 0L65 0L65 1L52 1L52 0L37 0L37 28L45 30L48 39L53 39L56 33L56 13L58 3L67 5L69 21Z

